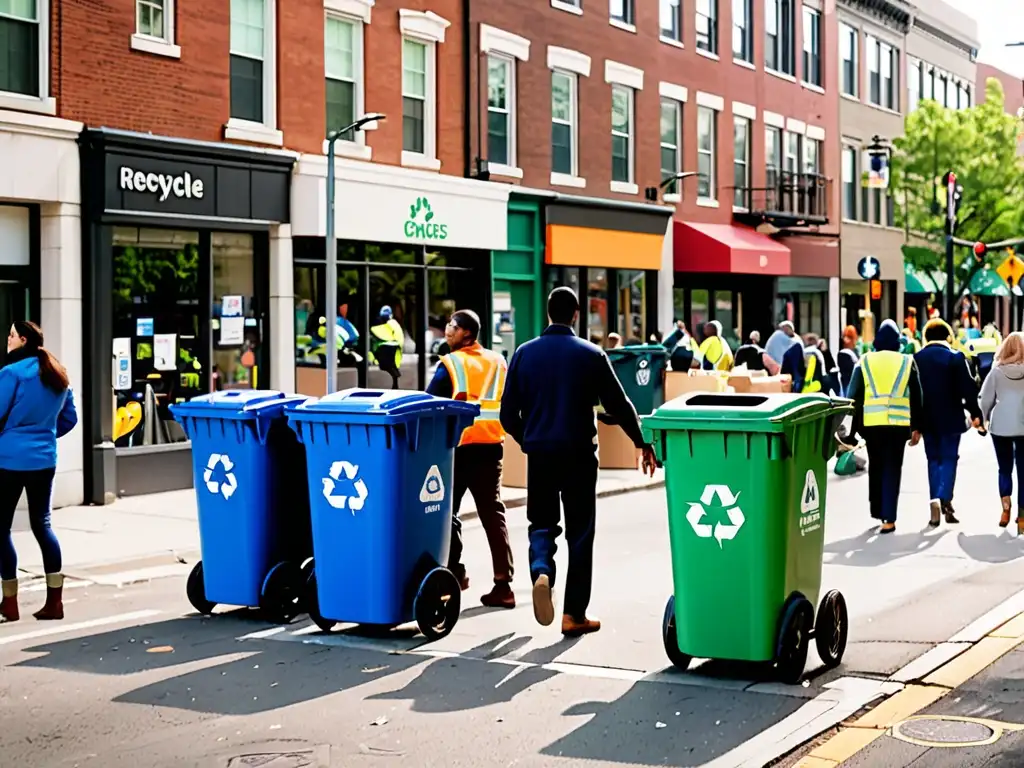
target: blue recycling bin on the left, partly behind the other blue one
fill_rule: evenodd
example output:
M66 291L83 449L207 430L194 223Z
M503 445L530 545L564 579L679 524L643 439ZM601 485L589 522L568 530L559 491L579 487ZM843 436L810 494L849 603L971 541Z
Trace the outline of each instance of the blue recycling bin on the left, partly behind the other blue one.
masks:
M209 614L217 604L292 621L312 565L305 451L286 409L307 398L242 389L171 406L191 440L202 559L186 586Z

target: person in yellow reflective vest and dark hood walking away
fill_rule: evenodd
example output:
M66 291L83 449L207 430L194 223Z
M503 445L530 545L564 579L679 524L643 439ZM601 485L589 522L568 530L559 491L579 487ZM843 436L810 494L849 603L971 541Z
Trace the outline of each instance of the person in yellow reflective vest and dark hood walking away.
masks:
M880 534L896 530L896 510L903 478L903 453L921 441L921 378L913 357L902 354L899 327L887 319L853 372L847 396L854 402L854 436L867 446L867 483L871 517L882 521ZM853 443L851 443L853 440Z

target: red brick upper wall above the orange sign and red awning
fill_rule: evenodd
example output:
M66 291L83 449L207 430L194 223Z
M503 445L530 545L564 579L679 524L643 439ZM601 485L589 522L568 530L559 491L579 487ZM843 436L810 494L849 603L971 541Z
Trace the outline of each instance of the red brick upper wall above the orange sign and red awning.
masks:
M725 110L719 116L719 209L697 207L695 179L686 179L684 201L677 207L677 217L687 220L726 222L731 219L732 185L732 113L731 102L741 101L758 108L758 121L753 125L752 173L755 186L765 182L764 110L787 118L821 126L825 129L824 172L835 178L840 164L839 147L839 63L837 60L838 27L835 4L824 2L829 11L822 18L822 66L825 93L821 94L764 72L764 3L755 0L754 42L757 71L732 61L732 4L719 0L719 43L721 60L696 53L694 26L695 2L683 0L684 49L668 45L658 39L658 4L638 0L637 33L633 34L608 24L607 5L585 3L578 16L551 7L549 0L476 0L471 11L471 55L479 54L479 25L487 24L531 41L529 60L517 63L517 163L523 169L522 183L530 187L550 187L551 172L551 74L547 66L547 47L556 45L578 50L591 56L591 75L580 78L580 175L587 179L585 190L557 187L562 191L621 200L642 201L643 187L659 181L659 102L660 81L684 85L689 100L683 110L683 170L696 170L696 92L706 91L725 99ZM798 10L800 3L796 4ZM801 16L797 15L798 74L801 50ZM636 169L640 186L638 196L623 196L610 191L611 180L611 87L604 82L604 62L611 59L644 71L644 88L636 96ZM475 79L476 67L472 75ZM481 84L482 89L485 84ZM476 88L474 80L474 90ZM479 105L480 111L485 104ZM472 111L471 129L473 154L477 148L477 106ZM485 131L484 131L484 141ZM485 154L485 153L484 153ZM834 183L830 210L838 211L839 184ZM835 216L838 222L839 216ZM838 224L828 227L838 231Z

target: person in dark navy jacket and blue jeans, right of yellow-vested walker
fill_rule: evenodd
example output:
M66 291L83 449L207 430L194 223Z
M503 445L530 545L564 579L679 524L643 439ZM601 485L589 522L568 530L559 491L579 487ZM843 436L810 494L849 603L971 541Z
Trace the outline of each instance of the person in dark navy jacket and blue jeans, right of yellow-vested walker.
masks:
M952 329L936 317L925 324L924 338L925 346L913 359L921 374L925 400L921 432L928 457L932 509L929 524L938 527L942 515L947 523L959 522L952 501L961 436L968 430L964 411L971 415L973 425L979 427L981 409L978 408L978 386L967 357L952 348Z

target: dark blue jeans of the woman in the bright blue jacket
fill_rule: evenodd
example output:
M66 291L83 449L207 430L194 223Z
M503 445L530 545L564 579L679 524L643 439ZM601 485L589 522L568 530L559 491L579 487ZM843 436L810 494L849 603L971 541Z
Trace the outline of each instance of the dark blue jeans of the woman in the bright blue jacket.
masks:
M5 582L17 578L17 553L10 529L23 490L29 497L29 524L43 553L43 569L47 573L60 572L60 545L50 527L50 495L55 472L55 469L0 469L0 579Z

